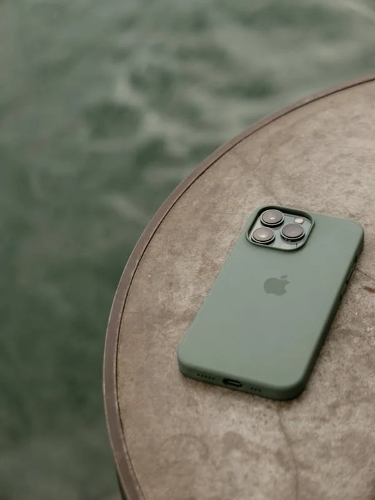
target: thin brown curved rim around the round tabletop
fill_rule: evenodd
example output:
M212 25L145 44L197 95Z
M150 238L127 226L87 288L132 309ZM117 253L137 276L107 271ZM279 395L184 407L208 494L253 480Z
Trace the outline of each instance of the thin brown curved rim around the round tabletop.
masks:
M172 191L172 193L167 197L164 203L160 206L158 211L155 213L151 221L144 229L139 241L136 243L132 254L130 255L120 282L117 286L115 297L113 299L113 304L110 309L110 316L108 319L108 327L106 331L106 344L104 347L104 357L103 357L103 397L104 406L106 411L106 423L108 428L108 434L110 437L110 446L113 451L113 456L115 459L115 468L117 472L117 479L120 485L122 494L127 500L145 500L144 495L141 492L141 486L136 478L136 473L132 466L132 461L127 450L125 437L122 432L122 423L120 417L120 409L118 405L117 398L117 344L120 333L120 323L122 318L122 313L125 308L125 303L127 299L127 294L129 288L132 284L132 279L136 272L136 268L144 255L144 252L150 243L153 235L158 230L158 227L163 222L168 212L172 209L173 205L177 203L179 198L190 188L193 182L200 177L205 170L211 167L217 160L219 160L224 154L226 154L231 148L234 148L248 136L258 132L258 130L266 127L266 125L279 120L279 118L288 115L292 111L302 108L303 106L313 103L314 101L319 101L319 99L325 98L332 94L337 94L340 91L350 89L354 86L359 86L369 82L375 81L375 75L369 75L367 77L357 78L350 82L344 84L333 86L324 91L320 91L317 94L312 94L307 98L303 98L296 103L288 105L286 108L269 115L268 117L255 122L243 132L238 134L224 145L217 148L208 158L201 162L196 169L189 174L186 179L184 179L177 188Z

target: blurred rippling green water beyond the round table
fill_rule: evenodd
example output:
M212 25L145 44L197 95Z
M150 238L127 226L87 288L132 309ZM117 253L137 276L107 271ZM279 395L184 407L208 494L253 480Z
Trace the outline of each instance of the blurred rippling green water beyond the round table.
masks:
M117 498L101 366L136 239L220 143L374 63L371 0L0 0L1 500Z

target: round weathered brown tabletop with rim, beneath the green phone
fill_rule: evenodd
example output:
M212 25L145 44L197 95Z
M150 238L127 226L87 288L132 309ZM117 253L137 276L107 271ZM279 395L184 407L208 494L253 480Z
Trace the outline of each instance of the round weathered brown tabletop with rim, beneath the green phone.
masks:
M301 397L275 402L179 373L176 359L250 212L350 217L362 257ZM165 201L113 302L104 393L128 500L375 499L375 77L258 122Z

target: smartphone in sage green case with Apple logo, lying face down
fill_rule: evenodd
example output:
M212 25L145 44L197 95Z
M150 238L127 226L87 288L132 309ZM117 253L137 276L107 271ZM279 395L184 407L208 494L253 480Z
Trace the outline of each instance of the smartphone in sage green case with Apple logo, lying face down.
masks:
M363 241L348 219L255 210L179 345L180 371L272 399L300 395Z

